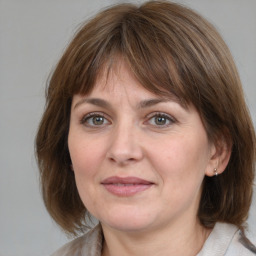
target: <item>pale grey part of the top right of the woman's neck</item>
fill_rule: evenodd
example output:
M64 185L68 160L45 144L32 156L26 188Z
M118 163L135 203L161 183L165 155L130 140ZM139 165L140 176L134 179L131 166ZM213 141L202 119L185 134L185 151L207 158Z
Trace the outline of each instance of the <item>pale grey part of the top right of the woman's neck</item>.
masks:
M256 248L232 224L216 223L198 256L255 256Z

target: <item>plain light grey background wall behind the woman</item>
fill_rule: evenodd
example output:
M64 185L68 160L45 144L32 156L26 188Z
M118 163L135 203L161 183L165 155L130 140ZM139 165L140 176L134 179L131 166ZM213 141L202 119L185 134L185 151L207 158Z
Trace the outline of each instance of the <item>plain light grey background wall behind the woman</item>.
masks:
M0 0L0 256L49 255L67 241L41 199L34 136L44 88L78 24L114 0ZM143 1L133 1L143 2ZM184 0L228 43L256 123L256 0ZM256 203L249 218L256 241Z

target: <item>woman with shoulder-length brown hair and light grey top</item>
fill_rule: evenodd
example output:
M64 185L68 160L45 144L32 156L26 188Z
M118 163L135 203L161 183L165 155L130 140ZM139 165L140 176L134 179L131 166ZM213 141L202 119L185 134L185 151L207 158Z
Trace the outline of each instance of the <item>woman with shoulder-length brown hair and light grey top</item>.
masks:
M54 255L254 255L255 133L231 54L178 4L120 4L75 35L36 139Z

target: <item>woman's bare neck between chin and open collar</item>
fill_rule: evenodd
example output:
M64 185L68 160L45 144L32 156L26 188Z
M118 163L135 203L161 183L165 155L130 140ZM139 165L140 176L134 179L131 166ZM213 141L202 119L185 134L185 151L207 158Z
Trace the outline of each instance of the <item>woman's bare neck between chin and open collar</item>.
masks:
M198 220L186 225L176 223L153 232L123 232L104 225L102 228L105 238L103 256L195 256L211 232Z

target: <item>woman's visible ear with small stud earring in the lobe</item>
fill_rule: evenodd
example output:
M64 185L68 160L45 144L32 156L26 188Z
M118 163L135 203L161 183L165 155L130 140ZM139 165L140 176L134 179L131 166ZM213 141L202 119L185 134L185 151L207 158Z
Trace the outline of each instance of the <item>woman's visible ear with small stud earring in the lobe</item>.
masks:
M225 171L232 149L232 143L228 142L228 139L226 138L224 135L221 135L217 141L212 143L210 149L210 159L205 170L205 175L212 177Z

